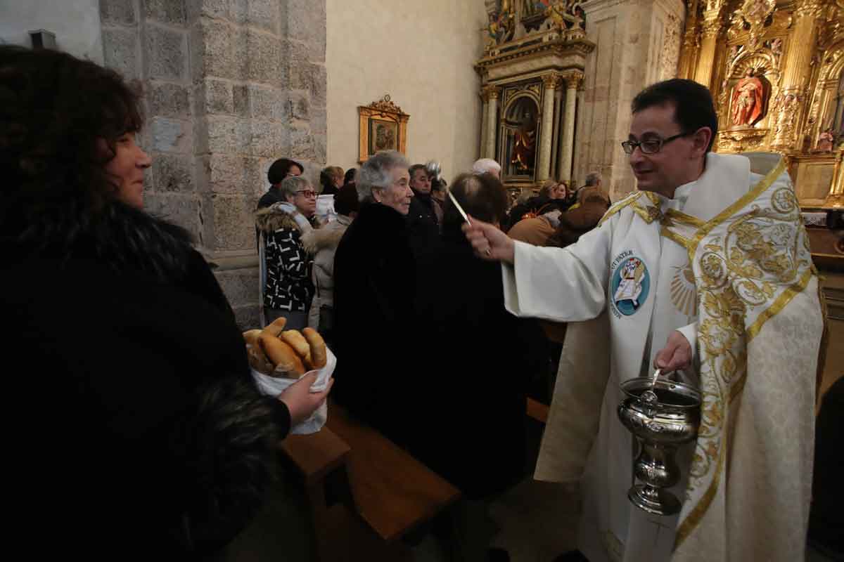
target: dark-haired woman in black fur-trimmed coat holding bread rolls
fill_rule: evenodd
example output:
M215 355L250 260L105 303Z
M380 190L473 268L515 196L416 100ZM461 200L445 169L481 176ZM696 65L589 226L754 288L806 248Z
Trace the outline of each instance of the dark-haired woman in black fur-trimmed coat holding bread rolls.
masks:
M143 211L151 160L116 72L3 45L0 101L5 543L33 559L214 554L325 394L312 376L258 394L187 231Z

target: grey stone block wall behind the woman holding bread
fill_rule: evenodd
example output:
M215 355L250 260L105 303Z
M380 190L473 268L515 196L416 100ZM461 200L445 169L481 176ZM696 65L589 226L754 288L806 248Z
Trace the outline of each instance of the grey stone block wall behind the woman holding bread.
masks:
M100 0L106 66L143 85L144 204L186 227L257 325L252 211L276 158L326 158L325 0Z

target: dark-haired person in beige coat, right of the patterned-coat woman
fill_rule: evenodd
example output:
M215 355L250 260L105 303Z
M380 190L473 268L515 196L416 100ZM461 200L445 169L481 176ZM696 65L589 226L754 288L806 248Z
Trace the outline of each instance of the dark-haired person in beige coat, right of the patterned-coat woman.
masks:
M334 322L334 253L346 228L358 216L360 202L354 184L346 184L334 195L337 219L322 228L315 228L302 237L307 254L313 256L314 297L308 325L316 329L333 348Z

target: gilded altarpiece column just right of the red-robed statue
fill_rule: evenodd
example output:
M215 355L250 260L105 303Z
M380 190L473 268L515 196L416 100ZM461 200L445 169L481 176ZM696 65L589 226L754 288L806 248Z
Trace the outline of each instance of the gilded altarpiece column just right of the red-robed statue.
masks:
M816 22L824 11L823 0L802 0L794 10L793 32L788 57L782 69L782 89L771 100L771 125L773 141L771 147L779 150L800 148L801 135L797 126L807 101L807 86L812 65L812 56L818 40Z

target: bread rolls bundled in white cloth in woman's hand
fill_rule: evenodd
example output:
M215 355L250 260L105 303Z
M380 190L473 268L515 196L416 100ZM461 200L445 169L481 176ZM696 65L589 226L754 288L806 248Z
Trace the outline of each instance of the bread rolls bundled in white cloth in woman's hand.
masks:
M317 380L311 385L311 392L322 392L337 366L337 357L317 330L284 329L286 322L284 317L278 318L264 329L243 333L249 367L258 389L269 396L278 396L306 373L316 371ZM310 418L292 427L290 433L316 433L326 420L327 405L323 403Z

